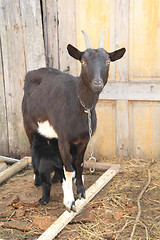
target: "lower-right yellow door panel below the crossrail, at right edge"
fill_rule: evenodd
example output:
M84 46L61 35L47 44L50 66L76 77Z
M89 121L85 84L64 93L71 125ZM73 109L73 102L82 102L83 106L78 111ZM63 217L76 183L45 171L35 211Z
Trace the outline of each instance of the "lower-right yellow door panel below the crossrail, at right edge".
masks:
M129 152L136 158L160 156L160 103L129 103Z

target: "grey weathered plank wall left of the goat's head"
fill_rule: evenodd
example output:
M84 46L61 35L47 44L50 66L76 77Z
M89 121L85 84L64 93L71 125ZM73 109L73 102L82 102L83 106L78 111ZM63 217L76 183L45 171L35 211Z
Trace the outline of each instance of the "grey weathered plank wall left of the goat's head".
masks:
M66 48L76 45L75 26L74 0L0 1L1 155L30 152L21 113L26 72L47 65L76 74Z

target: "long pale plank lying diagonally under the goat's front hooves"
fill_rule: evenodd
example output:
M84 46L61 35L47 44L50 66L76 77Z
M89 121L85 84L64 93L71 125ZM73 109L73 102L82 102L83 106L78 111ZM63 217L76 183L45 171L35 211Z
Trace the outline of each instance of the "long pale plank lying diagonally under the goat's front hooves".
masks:
M52 240L77 215L84 206L118 173L119 165L112 165L99 179L86 190L86 199L76 200L76 212L65 211L38 240Z

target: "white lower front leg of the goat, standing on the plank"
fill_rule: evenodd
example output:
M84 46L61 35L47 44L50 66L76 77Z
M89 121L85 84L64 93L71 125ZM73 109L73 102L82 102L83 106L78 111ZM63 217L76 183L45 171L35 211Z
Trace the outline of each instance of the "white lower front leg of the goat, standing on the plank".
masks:
M71 210L71 208L73 208L73 210L75 210L74 209L75 208L75 200L74 200L73 189L72 189L73 173L67 172L64 168L64 174L65 174L66 180L63 179L63 183L62 183L62 189L63 189L63 194L64 194L63 203L68 210Z

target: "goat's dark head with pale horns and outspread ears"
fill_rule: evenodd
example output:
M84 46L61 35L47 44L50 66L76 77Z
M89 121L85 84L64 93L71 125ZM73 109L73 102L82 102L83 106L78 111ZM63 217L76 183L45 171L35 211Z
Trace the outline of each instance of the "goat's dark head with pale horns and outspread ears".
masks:
M107 52L103 48L104 31L101 34L99 48L92 49L91 42L86 32L82 31L86 40L87 49L84 52L79 51L72 45L68 45L68 53L79 60L82 65L81 77L84 84L95 94L101 93L108 80L110 61L116 61L123 57L126 49L121 48L114 52Z

